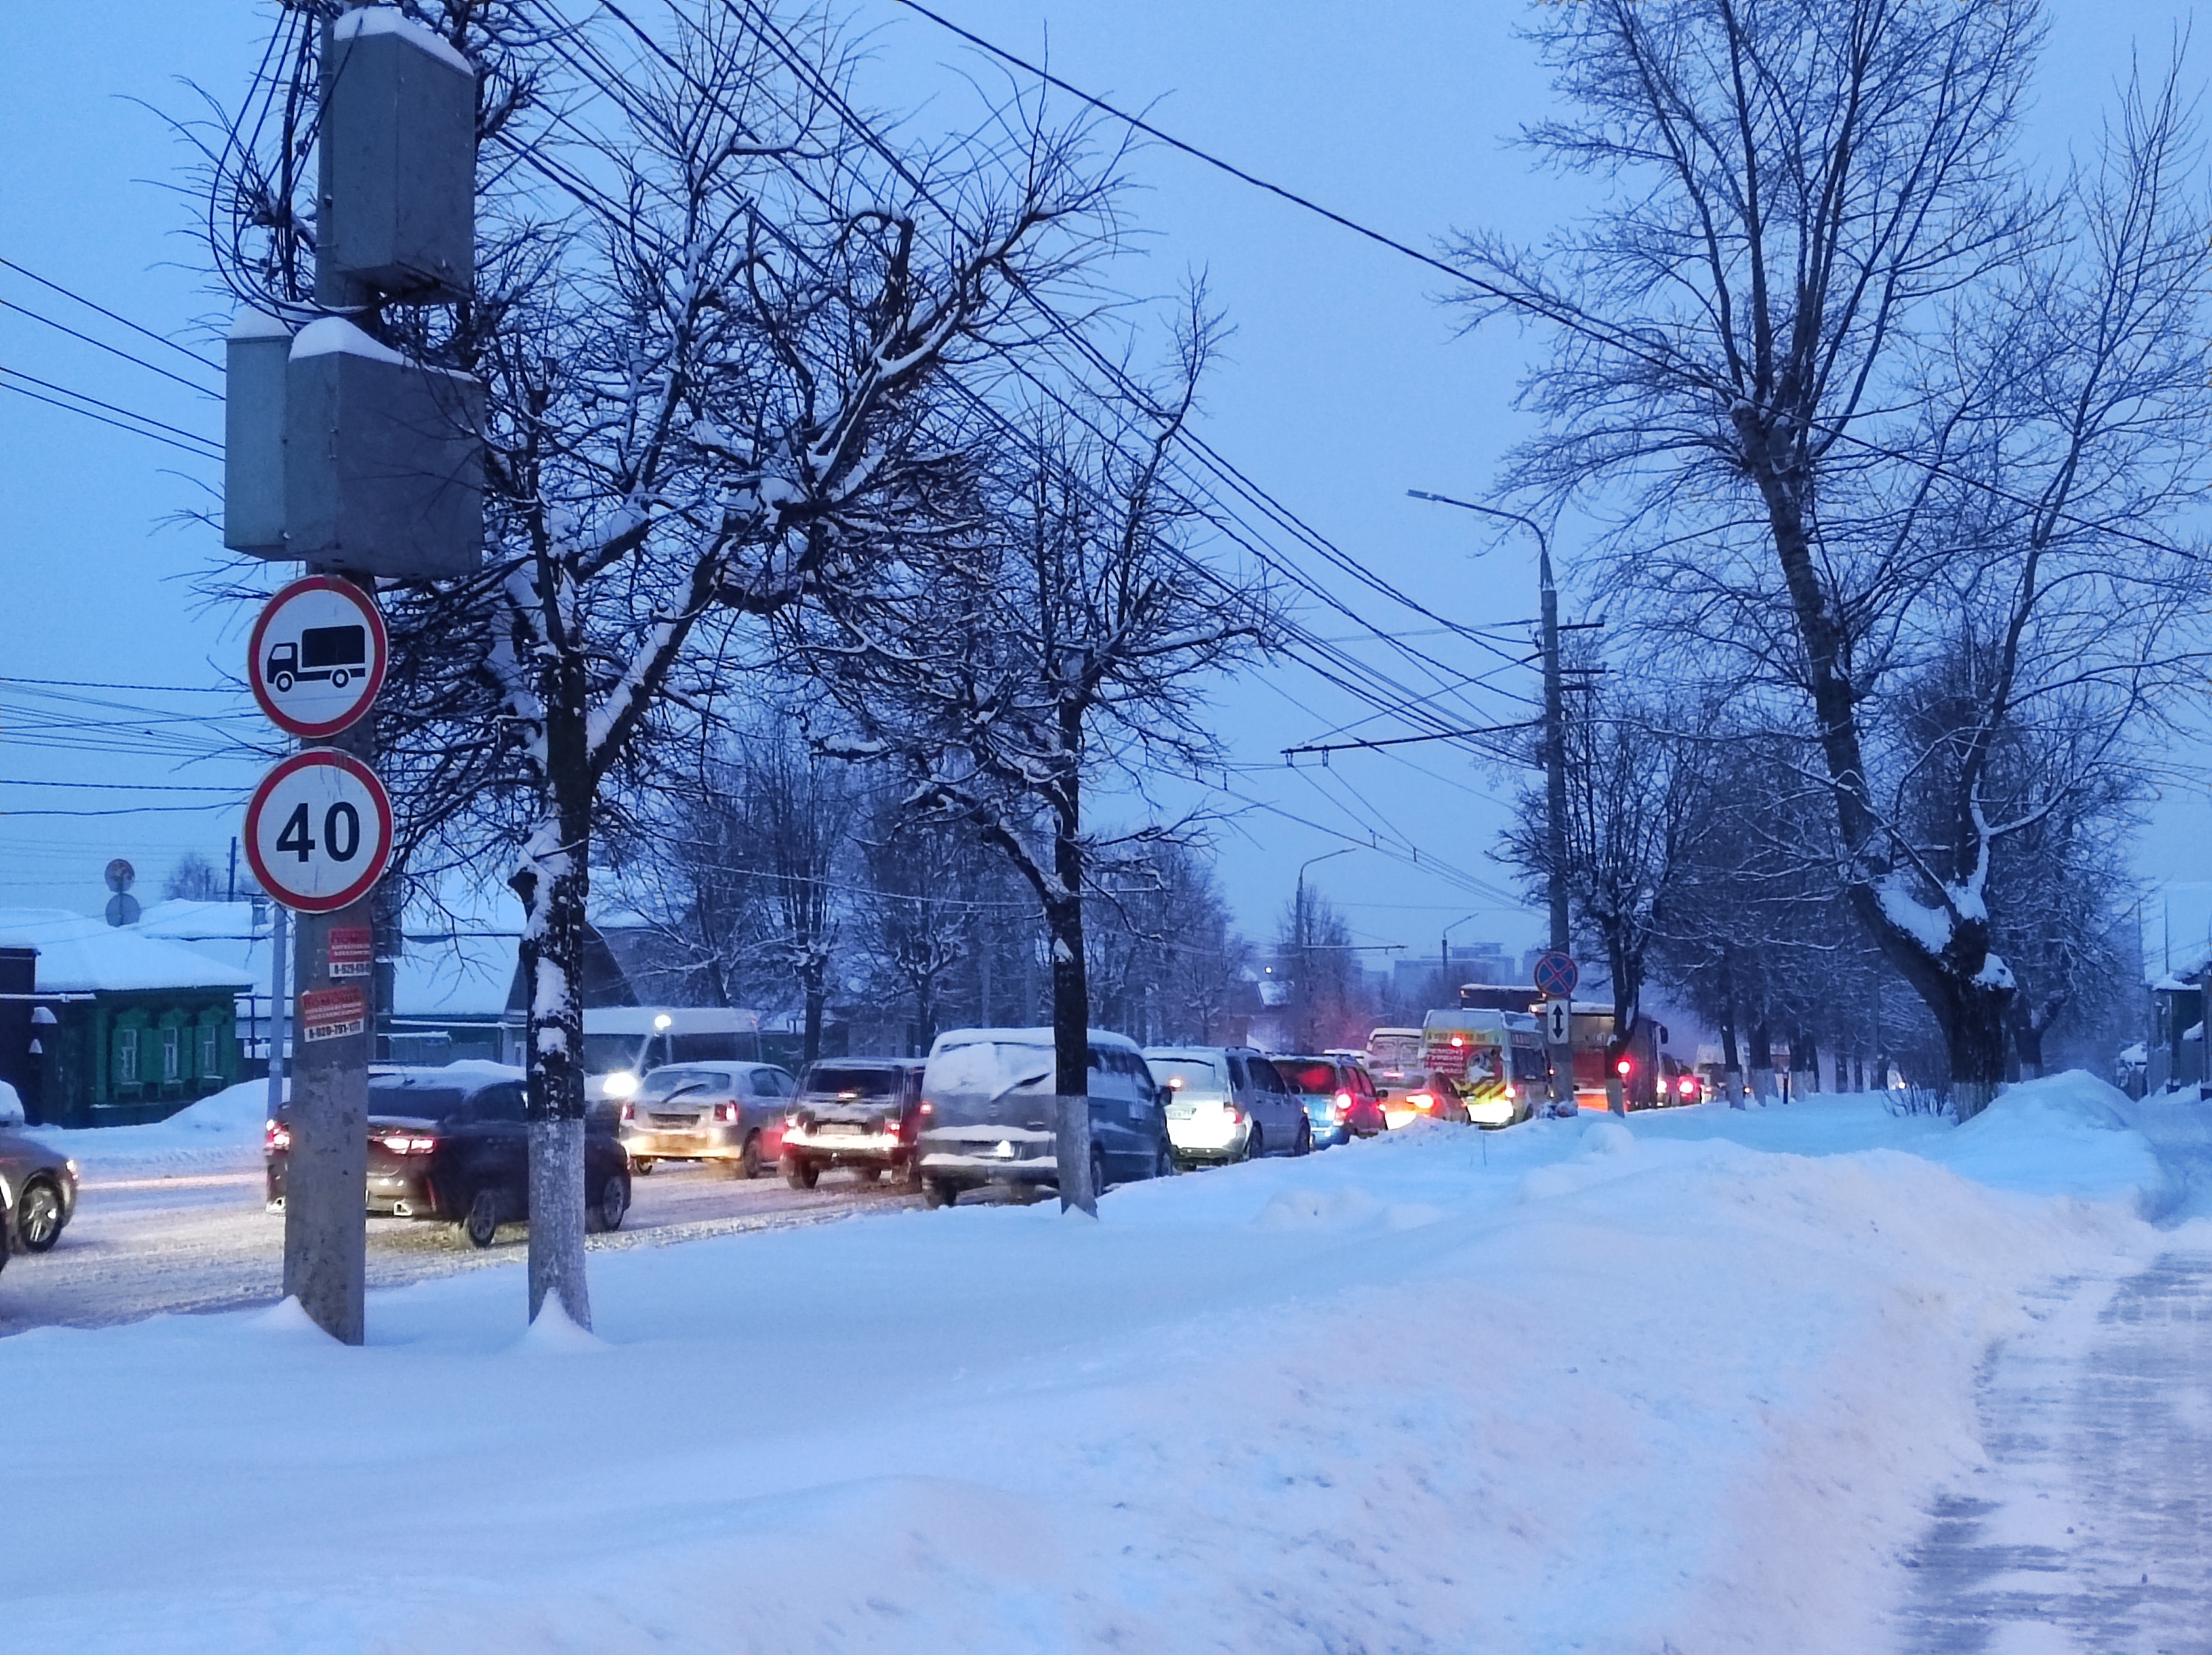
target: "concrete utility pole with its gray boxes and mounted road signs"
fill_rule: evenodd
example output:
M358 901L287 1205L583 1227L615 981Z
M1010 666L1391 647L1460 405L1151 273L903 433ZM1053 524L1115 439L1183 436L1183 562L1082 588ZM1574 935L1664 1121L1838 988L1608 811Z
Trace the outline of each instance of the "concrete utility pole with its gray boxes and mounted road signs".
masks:
M316 133L314 301L274 292L281 314L246 310L228 343L223 544L276 562L303 562L352 604L363 624L310 626L268 639L254 633L254 695L279 728L310 748L276 766L248 810L248 854L270 896L299 914L292 987L299 1038L285 1106L283 1290L334 1339L365 1339L365 1184L369 1053L376 1016L365 993L374 971L376 881L392 854L389 801L374 777L376 715L387 642L376 577L469 575L482 562L482 387L414 363L383 334L387 305L458 303L476 274L476 69L447 40L396 7L347 4L323 24ZM305 325L303 325L305 323ZM374 675L361 653L378 637ZM352 655L354 673L305 673L316 639ZM285 655L283 650L290 650ZM292 704L310 679L356 697L321 715ZM347 781L347 754L358 774ZM325 792L299 794L283 832L254 834L259 812L312 766ZM288 794L290 797L290 794ZM327 810L325 810L327 805ZM380 821L374 841L363 808ZM274 825L274 823L272 823ZM288 878L268 858L296 854ZM354 863L363 856L361 863ZM352 863L356 878L316 870ZM290 896L285 896L290 892ZM389 916L387 916L389 918ZM396 927L394 927L396 929ZM283 920L276 954L283 954ZM272 967L270 1104L283 1095L283 967Z

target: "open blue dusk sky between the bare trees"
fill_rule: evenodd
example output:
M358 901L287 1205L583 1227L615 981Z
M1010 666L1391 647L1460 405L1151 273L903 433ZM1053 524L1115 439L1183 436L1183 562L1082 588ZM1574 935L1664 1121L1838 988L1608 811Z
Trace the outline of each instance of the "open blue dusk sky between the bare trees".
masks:
M1048 49L1053 69L1075 84L1150 106L1168 131L1413 243L1478 223L1533 237L1562 199L1557 181L1531 177L1502 144L1546 104L1531 53L1513 40L1520 4L945 0L942 9L1024 55ZM131 7L128 29L91 29L84 7L9 0L0 11L0 137L13 166L0 192L0 257L219 361L226 312L208 292L192 235L190 150L164 115L199 113L188 82L234 95L270 11L173 0ZM2163 0L2070 0L2059 9L2033 142L2053 159L2088 144L2112 77L2126 71L2130 38L2159 55L2183 15ZM960 106L962 77L980 66L958 42L891 0L863 0L854 22L872 33L874 102L920 106L920 128ZM1482 493L1520 429L1511 389L1524 341L1509 330L1455 339L1436 303L1444 285L1436 272L1168 150L1141 150L1130 175L1144 237L1119 285L1168 292L1203 270L1237 330L1208 396L1206 436L1422 602L1478 624L1533 615L1524 540L1405 498L1409 487ZM18 270L0 268L0 299L217 385L184 354ZM210 396L9 310L0 310L0 363L186 431L221 434ZM212 507L217 465L11 392L0 392L0 498L9 502L0 520L0 677L18 679L0 684L0 905L91 912L104 898L100 867L113 854L131 856L146 885L157 885L186 847L221 865L237 805L219 792L20 783L243 794L259 766L206 750L265 739L265 728L250 704L186 686L204 690L232 668L250 617L208 613L190 591L219 547L212 529L177 516ZM1575 551L1571 531L1559 549ZM1343 577L1329 586L1349 591ZM1380 602L1363 606L1385 615ZM1568 608L1586 613L1573 595ZM1356 642L1349 622L1305 620L1323 637L1354 639L1343 646L1347 662L1396 675L1380 650ZM1482 666L1455 657L1444 637L1413 637L1416 620L1398 615L1394 624L1447 673ZM108 695L20 679L179 688ZM1533 673L1506 668L1493 688L1469 693L1462 710L1526 717L1533 690ZM66 721L95 712L58 699L69 695L177 721L104 737L100 752L69 750ZM1455 943L1537 940L1540 918L1513 901L1511 878L1489 861L1513 777L1447 748L1338 754L1327 772L1292 772L1281 748L1334 726L1398 732L1387 721L1356 724L1363 706L1296 668L1221 686L1217 710L1243 766L1232 774L1241 799L1223 801L1241 814L1223 821L1219 843L1223 881L1248 929L1272 929L1301 861L1374 832L1396 841L1396 854L1363 850L1314 870L1358 940L1433 951L1438 929L1453 920L1462 920ZM206 803L219 808L197 808ZM144 805L161 812L31 814ZM2212 912L2212 883L2194 878L2212 876L2197 854L2208 830L2201 788L2190 785L2161 801L2143 839L2143 876L2172 883L2177 951L2183 938L2203 940ZM2161 916L2154 901L2146 925L2152 962Z

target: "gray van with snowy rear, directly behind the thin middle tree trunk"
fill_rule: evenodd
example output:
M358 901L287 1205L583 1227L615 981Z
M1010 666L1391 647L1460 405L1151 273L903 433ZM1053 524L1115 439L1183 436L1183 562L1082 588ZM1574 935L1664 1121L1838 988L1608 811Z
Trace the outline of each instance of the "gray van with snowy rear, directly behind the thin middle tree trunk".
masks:
M1088 1038L1091 1188L1161 1177L1175 1168L1161 1086L1137 1042L1106 1029ZM1004 1186L1060 1188L1051 1029L951 1029L922 1069L922 1199Z

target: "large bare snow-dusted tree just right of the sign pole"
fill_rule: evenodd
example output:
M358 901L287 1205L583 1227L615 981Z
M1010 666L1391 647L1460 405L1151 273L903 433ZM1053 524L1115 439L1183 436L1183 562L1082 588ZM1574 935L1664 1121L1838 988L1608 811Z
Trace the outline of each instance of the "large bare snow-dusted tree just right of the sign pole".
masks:
M301 15L288 13L285 38ZM717 721L748 620L865 580L936 520L967 460L942 381L1024 334L1013 312L1113 239L1110 170L1033 111L896 153L852 104L818 15L670 7L591 27L549 4L411 7L493 58L480 102L476 292L451 319L365 316L487 387L478 577L392 593L380 706L409 836L513 856L531 985L531 1312L588 1323L584 909L595 834L635 816L655 737ZM305 106L294 60L285 111ZM305 314L312 124L276 164L248 122L217 159L217 254Z

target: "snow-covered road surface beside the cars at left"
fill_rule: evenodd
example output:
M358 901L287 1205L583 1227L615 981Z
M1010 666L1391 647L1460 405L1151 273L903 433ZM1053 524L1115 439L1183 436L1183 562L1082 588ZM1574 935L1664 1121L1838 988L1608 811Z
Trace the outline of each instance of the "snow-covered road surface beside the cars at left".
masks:
M261 1157L228 1162L181 1173L88 1170L77 1217L55 1250L9 1259L0 1272L0 1334L276 1303L283 1219L263 1210ZM699 1166L661 1166L633 1190L630 1217L617 1235L593 1237L595 1250L920 1206L891 1188L863 1188L847 1173L827 1175L816 1190L792 1190L779 1179L745 1184ZM369 1286L520 1263L524 1237L522 1226L509 1226L498 1243L478 1250L451 1224L369 1219Z

